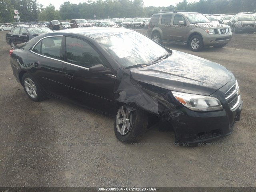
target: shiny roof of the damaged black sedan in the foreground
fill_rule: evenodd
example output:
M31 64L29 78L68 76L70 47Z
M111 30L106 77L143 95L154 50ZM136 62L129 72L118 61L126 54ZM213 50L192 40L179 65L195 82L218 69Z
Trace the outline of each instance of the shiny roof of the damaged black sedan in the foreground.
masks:
M90 38L102 38L111 35L121 34L133 32L133 30L126 29L126 28L101 28L101 27L82 27L82 28L72 28L72 29L65 29L63 31L54 31L53 33L67 33L67 34L82 34L86 35Z

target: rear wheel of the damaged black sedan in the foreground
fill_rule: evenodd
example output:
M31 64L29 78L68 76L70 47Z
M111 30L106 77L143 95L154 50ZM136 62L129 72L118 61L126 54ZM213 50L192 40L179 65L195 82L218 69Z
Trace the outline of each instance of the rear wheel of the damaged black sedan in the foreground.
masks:
M44 90L38 84L37 80L28 73L22 76L22 85L28 95L33 101L41 101L46 98Z

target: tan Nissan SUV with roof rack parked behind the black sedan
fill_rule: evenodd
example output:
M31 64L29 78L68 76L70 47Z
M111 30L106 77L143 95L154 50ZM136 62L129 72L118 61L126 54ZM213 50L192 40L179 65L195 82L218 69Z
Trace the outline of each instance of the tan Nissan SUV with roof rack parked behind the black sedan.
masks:
M188 44L192 51L206 46L224 47L232 38L230 26L211 22L195 12L166 12L153 14L148 36L154 41Z

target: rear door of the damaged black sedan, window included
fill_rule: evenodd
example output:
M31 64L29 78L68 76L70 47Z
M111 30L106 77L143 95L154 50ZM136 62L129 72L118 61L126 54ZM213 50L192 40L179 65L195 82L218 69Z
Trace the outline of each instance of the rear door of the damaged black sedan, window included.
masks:
M48 94L66 98L61 44L62 36L50 36L40 40L32 49L30 65L34 76Z

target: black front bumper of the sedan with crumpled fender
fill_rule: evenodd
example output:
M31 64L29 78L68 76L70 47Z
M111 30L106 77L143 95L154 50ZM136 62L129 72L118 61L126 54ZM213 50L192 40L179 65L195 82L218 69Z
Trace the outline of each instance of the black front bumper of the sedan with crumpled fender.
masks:
M232 133L236 121L240 120L243 102L234 111L195 112L186 107L172 112L175 143L189 146L222 138Z

